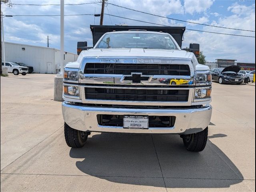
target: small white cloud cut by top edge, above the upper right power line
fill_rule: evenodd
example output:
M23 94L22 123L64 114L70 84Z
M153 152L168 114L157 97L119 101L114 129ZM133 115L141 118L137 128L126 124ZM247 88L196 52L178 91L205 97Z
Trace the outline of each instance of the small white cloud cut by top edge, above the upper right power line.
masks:
M213 2L214 0L184 0L185 12L189 14L205 12Z

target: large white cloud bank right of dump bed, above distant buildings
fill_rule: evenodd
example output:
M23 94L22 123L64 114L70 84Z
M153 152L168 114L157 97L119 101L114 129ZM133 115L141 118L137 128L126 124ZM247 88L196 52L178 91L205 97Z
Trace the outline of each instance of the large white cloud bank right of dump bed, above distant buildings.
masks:
M247 6L244 10L247 10L246 13L243 12L243 14L241 14L241 12L236 12L236 14L232 14L231 16L213 21L211 25L255 31L255 25L252 25L252 23L255 23L255 6ZM232 12L232 9L230 9L230 11ZM205 26L203 30L255 36L255 32L228 30L209 26ZM185 32L184 46L188 46L190 42L200 44L200 50L204 52L206 60L208 61L215 61L216 58L226 58L236 59L240 62L255 62L255 38L211 34L206 32L200 33L187 30Z

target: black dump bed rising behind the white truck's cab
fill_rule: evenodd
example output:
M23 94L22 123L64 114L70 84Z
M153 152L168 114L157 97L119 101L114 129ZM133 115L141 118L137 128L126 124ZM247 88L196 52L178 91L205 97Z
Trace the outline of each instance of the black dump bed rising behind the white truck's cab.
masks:
M106 32L111 31L128 31L131 29L135 30L147 30L155 32L169 33L178 43L181 48L182 37L186 27L156 27L156 26L116 26L116 25L91 25L93 38L93 46L98 42L102 35Z

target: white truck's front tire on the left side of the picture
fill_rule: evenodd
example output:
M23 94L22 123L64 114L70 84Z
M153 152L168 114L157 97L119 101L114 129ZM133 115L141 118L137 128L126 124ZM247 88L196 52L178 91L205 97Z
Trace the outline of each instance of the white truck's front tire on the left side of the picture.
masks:
M88 138L86 132L73 129L66 123L64 123L64 135L67 145L72 148L80 148L84 146Z

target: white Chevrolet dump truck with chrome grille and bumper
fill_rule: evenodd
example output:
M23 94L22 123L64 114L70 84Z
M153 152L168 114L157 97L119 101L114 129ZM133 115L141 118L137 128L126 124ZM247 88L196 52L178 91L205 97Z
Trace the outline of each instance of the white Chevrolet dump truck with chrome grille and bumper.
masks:
M68 146L84 146L90 132L119 132L178 134L187 150L204 150L212 76L198 64L199 44L181 49L185 28L90 28L94 47L78 42L78 59L64 70Z

